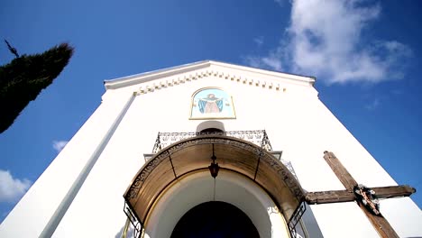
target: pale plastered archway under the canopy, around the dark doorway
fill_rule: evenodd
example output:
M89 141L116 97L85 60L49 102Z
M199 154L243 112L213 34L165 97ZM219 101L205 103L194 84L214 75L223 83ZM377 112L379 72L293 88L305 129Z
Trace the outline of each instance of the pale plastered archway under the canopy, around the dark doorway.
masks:
M183 215L209 201L221 201L241 209L260 237L289 237L285 220L271 197L251 179L225 169L216 181L204 169L172 183L153 205L145 221L145 237L170 237Z

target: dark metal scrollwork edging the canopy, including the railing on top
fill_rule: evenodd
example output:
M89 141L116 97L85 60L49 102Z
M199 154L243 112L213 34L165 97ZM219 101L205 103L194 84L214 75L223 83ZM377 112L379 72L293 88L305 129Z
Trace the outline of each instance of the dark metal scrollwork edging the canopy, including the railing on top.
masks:
M163 160L170 159L172 154L178 151L201 144L230 145L231 147L251 152L258 158L255 176L260 162L271 166L271 168L277 172L278 176L280 176L280 179L290 189L291 193L300 201L298 209L296 209L289 220L290 233L295 233L296 224L298 224L300 217L306 210L306 206L301 202L304 200L304 193L302 188L298 185L298 180L291 163L287 160L277 159L271 154L272 148L269 137L265 131L261 130L210 133L159 133L152 150L152 152L155 153L155 156L153 156L151 160L146 161L139 174L134 178L132 186L124 197L124 213L133 224L133 237L142 235L143 227L142 222L134 214L129 201L138 196L145 180Z

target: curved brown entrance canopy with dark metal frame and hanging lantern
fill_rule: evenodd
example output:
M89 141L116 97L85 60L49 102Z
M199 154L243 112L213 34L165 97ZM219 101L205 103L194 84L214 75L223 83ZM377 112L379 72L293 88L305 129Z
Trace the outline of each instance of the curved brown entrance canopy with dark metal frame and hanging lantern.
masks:
M260 147L226 133L197 133L194 137L174 142L158 151L133 178L124 194L125 213L134 225L140 223L138 225L143 226L166 189L189 173L208 169L214 154L220 169L251 179L279 206L286 221L291 222L303 208L305 193L289 169L263 148L264 142Z

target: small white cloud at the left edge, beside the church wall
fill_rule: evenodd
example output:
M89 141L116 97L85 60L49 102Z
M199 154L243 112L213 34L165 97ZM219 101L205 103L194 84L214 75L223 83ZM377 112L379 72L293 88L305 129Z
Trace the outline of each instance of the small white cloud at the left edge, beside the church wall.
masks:
M0 169L0 202L15 202L31 187L28 179L14 178L8 170Z

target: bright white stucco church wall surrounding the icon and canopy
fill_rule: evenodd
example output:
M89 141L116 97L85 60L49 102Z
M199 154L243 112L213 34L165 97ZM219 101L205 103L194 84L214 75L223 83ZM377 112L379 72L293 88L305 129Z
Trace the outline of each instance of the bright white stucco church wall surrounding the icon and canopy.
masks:
M108 83L103 103L6 217L0 237L38 236L107 134L110 140L97 153L95 165L53 236L118 235L125 222L124 191L142 167L142 154L151 152L157 133L194 132L205 121L188 119L191 96L201 87L221 87L232 95L236 119L219 120L225 130L265 129L272 148L283 151L283 159L292 162L307 191L344 189L323 159L323 151L335 152L352 176L366 186L396 185L319 101L309 78L243 69L211 63L125 78L126 87ZM140 87L143 93L135 96L122 121L110 131ZM378 237L354 203L311 207L325 237ZM382 201L381 212L400 237L422 236L422 214L411 199Z

